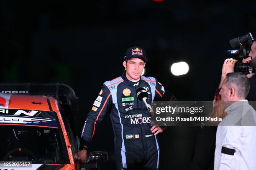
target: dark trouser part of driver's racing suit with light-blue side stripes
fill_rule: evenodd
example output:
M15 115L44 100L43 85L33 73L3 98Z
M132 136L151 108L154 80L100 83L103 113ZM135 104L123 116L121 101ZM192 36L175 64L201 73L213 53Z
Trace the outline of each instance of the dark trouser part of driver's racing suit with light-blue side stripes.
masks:
M158 141L154 135L143 140L126 139L122 147L122 140L115 140L115 160L117 170L158 170Z

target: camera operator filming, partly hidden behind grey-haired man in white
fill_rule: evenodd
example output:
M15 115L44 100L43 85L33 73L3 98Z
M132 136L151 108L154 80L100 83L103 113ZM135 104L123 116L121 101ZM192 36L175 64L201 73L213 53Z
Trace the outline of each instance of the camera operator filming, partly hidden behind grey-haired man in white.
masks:
M223 105L220 105L220 103L218 102L219 100L221 100L219 91L221 85L223 84L223 80L226 79L226 75L228 73L234 72L234 70L236 70L236 72L243 72L244 74L247 74L246 77L250 78L251 80L251 89L249 91L247 99L256 100L256 75L255 73L249 73L253 72L253 70L256 69L256 41L253 40L251 33L248 33L241 37L230 40L230 45L233 48L240 46L240 49L228 50L229 55L239 55L240 58L243 58L243 63L250 62L249 66L253 68L248 69L248 65L243 65L242 62L238 63L238 60L234 60L233 58L228 58L224 61L220 85L216 90L215 98L213 101L215 107L212 111L212 114L215 113L215 115L218 115L222 118L224 118L227 113L224 112L225 107ZM202 130L200 131L195 143L190 170L213 170L216 130L216 126L202 127Z

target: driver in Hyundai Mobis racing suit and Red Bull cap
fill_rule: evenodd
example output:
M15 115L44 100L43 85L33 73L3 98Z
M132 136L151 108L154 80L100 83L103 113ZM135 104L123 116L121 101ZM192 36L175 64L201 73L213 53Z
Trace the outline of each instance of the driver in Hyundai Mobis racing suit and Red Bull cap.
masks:
M157 170L159 144L156 135L162 133L164 127L150 124L151 115L146 105L137 98L136 90L144 88L149 95L148 101L151 102L162 99L165 94L164 86L154 77L141 76L147 61L146 52L142 48L128 48L124 60L126 71L122 76L104 82L88 113L82 128L80 151L75 158L84 162L95 128L111 107L117 170ZM172 94L169 98L176 100Z

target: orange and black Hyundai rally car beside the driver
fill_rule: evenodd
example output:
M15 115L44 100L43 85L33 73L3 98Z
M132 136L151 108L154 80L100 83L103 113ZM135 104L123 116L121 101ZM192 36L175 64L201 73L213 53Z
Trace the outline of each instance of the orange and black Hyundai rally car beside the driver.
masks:
M78 98L67 85L0 83L0 169L88 167L79 167L74 160L79 144L74 126L77 112ZM107 159L105 153L91 155L102 162ZM89 167L98 168L97 162Z

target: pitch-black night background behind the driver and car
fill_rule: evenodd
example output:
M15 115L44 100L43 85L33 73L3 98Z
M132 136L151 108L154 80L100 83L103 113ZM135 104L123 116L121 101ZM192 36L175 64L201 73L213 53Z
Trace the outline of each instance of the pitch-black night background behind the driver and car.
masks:
M0 1L1 82L61 82L80 100L77 127L106 80L123 73L128 47L146 50L145 76L156 77L178 100L213 100L229 40L256 30L254 1L151 0ZM256 35L254 35L256 36ZM186 75L170 66L185 61ZM200 127L169 127L159 135L160 169L190 166ZM109 116L91 150L107 151L114 168Z

